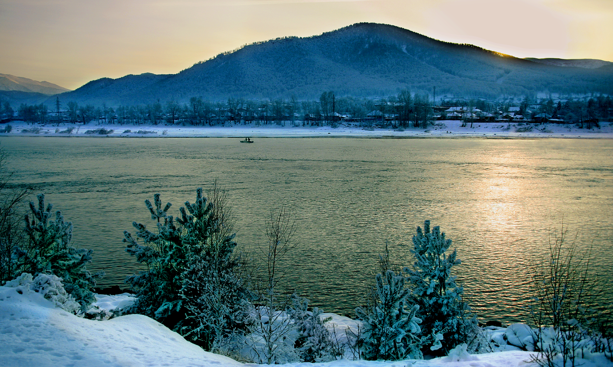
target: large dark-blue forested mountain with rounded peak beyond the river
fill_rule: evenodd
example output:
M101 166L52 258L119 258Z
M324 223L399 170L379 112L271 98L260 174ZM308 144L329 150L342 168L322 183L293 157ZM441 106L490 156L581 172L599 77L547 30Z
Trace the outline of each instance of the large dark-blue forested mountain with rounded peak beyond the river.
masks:
M606 61L603 61L606 63ZM318 99L390 96L400 90L436 96L498 98L562 94L613 94L613 64L600 68L558 66L467 44L452 44L407 29L357 23L312 37L283 37L246 45L178 74L99 79L63 93L81 104L180 102L202 96Z

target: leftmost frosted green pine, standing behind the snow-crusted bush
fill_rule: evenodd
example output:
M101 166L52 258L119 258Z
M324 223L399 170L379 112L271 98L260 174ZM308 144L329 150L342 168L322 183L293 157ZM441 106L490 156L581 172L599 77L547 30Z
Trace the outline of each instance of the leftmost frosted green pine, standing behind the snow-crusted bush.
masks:
M29 214L25 216L28 242L16 249L16 268L20 273L27 272L33 276L49 274L60 277L66 292L77 300L82 311L87 311L94 301L95 278L102 276L101 273L91 274L86 269L93 250L72 247L72 223L64 222L59 211L55 212L55 220L51 220L53 205L48 204L45 208L44 194L37 195L37 199L38 207L30 202L32 217Z

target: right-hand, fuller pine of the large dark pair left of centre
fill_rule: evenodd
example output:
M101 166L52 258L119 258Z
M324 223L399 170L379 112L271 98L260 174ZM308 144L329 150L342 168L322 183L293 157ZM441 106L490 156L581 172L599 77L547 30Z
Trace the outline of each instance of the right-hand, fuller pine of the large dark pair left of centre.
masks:
M189 315L179 331L207 350L242 338L253 322L252 294L240 277L240 258L234 253L234 234L228 234L223 215L196 192L196 202L180 208L182 243L187 263L181 273L180 295Z

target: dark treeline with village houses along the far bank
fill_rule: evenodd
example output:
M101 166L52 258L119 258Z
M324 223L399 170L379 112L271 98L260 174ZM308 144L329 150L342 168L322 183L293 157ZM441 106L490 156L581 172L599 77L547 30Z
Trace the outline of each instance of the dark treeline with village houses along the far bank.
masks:
M336 126L338 123L359 123L381 128L425 128L435 120L463 122L552 122L596 124L613 117L609 96L583 98L508 98L439 99L412 94L408 90L387 98L336 97L332 91L321 94L318 101L296 98L254 100L229 98L207 101L192 97L189 102L157 101L153 104L110 107L106 104L80 105L56 97L53 106L21 104L11 106L0 101L0 120L13 119L28 123L83 123L110 125L180 124L191 126L223 126L226 123L286 126Z

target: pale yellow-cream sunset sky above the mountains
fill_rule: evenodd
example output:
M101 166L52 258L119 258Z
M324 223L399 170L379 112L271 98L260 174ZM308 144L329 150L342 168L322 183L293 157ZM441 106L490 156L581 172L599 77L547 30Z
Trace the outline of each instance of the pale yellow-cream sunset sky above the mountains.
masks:
M0 74L75 89L359 22L521 58L613 61L613 0L0 0Z

